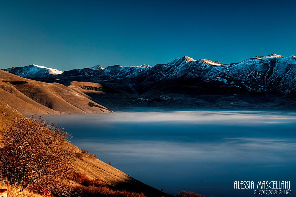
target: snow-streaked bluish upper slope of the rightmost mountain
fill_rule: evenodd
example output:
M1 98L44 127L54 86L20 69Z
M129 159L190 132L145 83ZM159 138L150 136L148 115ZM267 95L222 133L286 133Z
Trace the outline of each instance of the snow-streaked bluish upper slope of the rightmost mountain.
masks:
M296 59L276 54L224 65L217 76L249 91L296 94ZM209 79L209 81L212 79Z

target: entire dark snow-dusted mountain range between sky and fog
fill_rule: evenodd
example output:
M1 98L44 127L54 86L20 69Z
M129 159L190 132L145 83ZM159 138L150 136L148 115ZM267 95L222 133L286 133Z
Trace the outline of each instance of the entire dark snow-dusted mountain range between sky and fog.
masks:
M113 110L131 106L295 106L296 56L271 54L231 64L183 56L167 64L154 66L114 65L104 69L97 65L62 72L33 64L4 70L32 80L65 86L73 81L100 84L101 91L89 87L87 95L93 101Z

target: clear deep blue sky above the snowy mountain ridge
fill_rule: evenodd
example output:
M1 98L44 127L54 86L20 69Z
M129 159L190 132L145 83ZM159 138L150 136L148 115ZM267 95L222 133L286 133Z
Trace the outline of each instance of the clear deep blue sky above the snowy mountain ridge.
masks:
M0 68L296 55L296 1L1 1Z

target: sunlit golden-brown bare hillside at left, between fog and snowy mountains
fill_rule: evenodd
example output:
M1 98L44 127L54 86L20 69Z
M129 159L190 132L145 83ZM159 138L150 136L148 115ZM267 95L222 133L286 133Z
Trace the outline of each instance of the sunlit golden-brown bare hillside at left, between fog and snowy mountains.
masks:
M11 81L27 81L12 85ZM22 114L106 113L107 108L59 83L44 83L0 70L0 100ZM95 106L89 106L89 102Z

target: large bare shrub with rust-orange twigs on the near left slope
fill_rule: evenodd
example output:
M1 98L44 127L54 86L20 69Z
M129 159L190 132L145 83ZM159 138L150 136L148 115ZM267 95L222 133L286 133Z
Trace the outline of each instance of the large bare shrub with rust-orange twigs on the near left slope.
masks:
M17 118L1 133L0 176L46 195L67 193L64 178L73 176L70 135L44 117Z

